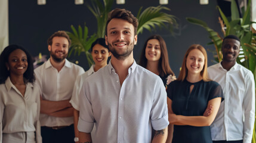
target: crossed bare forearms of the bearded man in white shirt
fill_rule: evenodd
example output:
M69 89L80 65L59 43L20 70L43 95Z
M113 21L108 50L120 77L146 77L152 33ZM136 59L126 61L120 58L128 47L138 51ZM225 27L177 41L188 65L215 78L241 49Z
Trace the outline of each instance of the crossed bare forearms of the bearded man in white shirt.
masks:
M69 100L49 101L41 98L40 113L54 117L71 117L73 116L73 107Z

